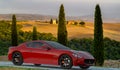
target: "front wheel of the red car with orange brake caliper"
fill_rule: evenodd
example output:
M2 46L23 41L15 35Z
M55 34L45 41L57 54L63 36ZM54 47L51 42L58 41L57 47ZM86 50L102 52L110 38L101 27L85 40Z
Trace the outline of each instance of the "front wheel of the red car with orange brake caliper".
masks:
M59 64L60 64L61 68L63 68L63 69L71 69L73 66L72 59L68 55L62 55L59 58Z

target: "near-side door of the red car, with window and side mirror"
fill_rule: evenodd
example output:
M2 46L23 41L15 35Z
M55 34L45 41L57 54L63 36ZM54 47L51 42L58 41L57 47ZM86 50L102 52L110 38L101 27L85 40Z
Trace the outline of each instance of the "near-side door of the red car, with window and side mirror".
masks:
M57 64L57 57L54 49L48 46L45 42L37 42L39 44L37 49L33 51L34 57L36 57L37 64Z

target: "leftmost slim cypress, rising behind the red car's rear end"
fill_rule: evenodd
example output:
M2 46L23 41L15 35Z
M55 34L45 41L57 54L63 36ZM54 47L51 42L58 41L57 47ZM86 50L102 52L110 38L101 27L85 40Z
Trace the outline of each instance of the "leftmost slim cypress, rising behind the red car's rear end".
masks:
M12 27L11 27L11 39L12 39L12 46L18 45L18 34L17 34L17 26L16 26L16 16L12 16Z

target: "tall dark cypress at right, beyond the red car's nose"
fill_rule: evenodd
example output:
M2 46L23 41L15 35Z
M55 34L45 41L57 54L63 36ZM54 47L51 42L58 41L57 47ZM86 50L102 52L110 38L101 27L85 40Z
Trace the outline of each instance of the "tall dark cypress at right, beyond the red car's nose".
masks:
M104 63L104 43L103 43L103 27L102 16L99 4L95 8L94 17L94 56L95 65L102 66Z

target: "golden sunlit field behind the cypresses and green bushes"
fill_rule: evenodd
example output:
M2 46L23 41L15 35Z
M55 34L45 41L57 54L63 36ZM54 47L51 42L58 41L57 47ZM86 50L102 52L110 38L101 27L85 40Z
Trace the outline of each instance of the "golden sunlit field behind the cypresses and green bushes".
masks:
M57 24L40 23L34 21L19 22L18 24L23 25L23 31L32 31L32 27L37 26L38 32L52 33L55 37L57 37ZM104 23L103 27L104 37L109 37L110 39L120 41L120 23ZM85 27L77 25L67 25L67 30L69 39L90 37L93 38L94 24L86 22Z

